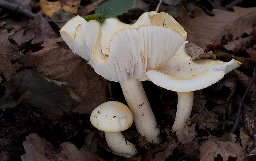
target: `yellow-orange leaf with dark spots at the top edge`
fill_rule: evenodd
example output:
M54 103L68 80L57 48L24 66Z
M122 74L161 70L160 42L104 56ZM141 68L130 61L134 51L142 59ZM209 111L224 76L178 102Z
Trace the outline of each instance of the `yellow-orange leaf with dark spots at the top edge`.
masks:
M60 0L60 1L47 1L40 0L40 6L46 16L52 17L52 14L61 8L67 12L77 13L81 0Z

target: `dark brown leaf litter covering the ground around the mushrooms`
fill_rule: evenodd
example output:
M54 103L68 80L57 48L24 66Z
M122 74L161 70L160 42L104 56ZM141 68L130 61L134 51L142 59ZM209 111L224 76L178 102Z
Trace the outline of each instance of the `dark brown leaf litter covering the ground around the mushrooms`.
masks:
M78 1L74 1L73 9L80 15L93 14L103 2L81 2L77 8ZM186 1L164 1L160 11L170 10L188 32L187 40L197 45L189 49L195 54L193 58L236 59L242 62L242 66L218 83L194 92L188 126L177 132L171 130L177 106L176 94L156 88L150 82L143 82L158 125L163 131L163 143L148 143L145 136L137 133L133 124L124 132L124 136L136 144L139 154L126 159L113 154L104 143L104 134L95 131L90 124L91 111L110 99L109 82L95 74L85 60L73 54L65 42L57 38L59 33L56 31L67 19L61 17L54 20L56 24L60 22L57 26L51 22L48 24L38 14L34 21L25 22L23 27L14 27L22 28L19 34L16 31L16 36L14 31L9 33L10 28L0 30L3 31L0 34L1 53L6 53L1 54L4 59L0 58L0 105L5 109L0 111L0 160L28 160L32 157L45 160L253 160L256 155L255 82L252 82L242 106L242 122L239 122L234 134L229 133L229 130L237 115L237 96L244 94L252 79L256 60L253 29L256 9L250 4L247 6L250 8L234 6L234 11L227 11L218 0L207 2L195 2L192 5ZM39 6L36 1L32 4L34 7ZM181 9L182 5L188 13ZM50 10L48 7L45 5L44 9ZM66 7L71 10L72 5L67 4ZM156 7L156 3L144 1L137 8L132 6L132 10L118 18L126 23L136 21L138 15L135 13L142 11L139 7L155 10L152 8ZM60 17L66 13L63 10L61 14L56 12L58 8L54 10L52 19L55 14ZM11 19L12 15L8 18ZM6 20L4 26L9 22ZM35 27L31 25L34 23ZM43 93L39 92L41 88L45 90ZM119 84L111 82L111 88L114 100L125 103ZM11 147L14 147L13 150Z

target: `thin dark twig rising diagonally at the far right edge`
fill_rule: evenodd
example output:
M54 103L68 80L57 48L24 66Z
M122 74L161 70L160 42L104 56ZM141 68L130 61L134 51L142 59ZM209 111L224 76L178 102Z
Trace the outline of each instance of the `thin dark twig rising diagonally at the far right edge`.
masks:
M236 128L237 128L240 113L241 113L241 108L242 108L242 105L243 105L243 102L244 102L244 98L245 98L246 94L248 93L250 87L252 86L253 81L255 80L255 71L256 71L256 66L254 65L252 80L251 80L250 84L248 85L248 87L246 88L246 90L244 92L244 95L243 95L243 98L239 99L240 97L238 96L239 97L238 98L239 99L239 106L238 106L238 110L237 110L236 121L235 121L235 124L234 124L233 128L231 129L230 133L234 133Z

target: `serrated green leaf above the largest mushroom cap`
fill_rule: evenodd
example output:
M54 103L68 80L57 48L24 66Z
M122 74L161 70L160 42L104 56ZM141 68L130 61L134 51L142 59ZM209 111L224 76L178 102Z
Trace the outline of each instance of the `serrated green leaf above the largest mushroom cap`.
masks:
M96 10L95 14L102 14L102 17L116 17L132 9L133 0L110 0L102 3Z

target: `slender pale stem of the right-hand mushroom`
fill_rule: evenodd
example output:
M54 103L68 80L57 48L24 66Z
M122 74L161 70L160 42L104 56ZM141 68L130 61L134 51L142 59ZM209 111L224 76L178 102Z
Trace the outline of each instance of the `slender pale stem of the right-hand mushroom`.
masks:
M178 92L178 105L172 131L178 131L186 126L185 121L190 117L194 101L194 92Z

